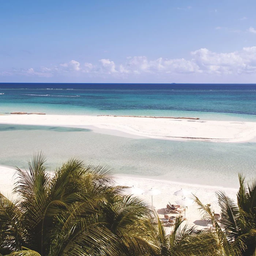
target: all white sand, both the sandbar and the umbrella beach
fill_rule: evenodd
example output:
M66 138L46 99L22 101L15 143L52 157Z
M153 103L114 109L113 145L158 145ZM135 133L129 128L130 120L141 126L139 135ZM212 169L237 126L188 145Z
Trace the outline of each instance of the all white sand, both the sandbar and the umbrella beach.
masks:
M206 140L212 142L245 142L256 137L256 123L230 122L230 121L203 121L203 120L173 120L166 118L140 118L140 117L112 117L112 116L66 116L66 115L3 115L0 116L0 124L26 124L26 125L52 125L70 127L95 127L97 132L112 131L113 135L122 133L140 136L141 138L174 139L174 140ZM110 134L110 133L109 133ZM14 187L14 169L0 166L0 191L5 195L10 194ZM180 196L173 193L186 189L195 194L204 203L210 203L216 213L218 207L216 191L225 191L231 198L236 199L237 189L220 188L181 184L165 180L155 180L144 177L118 176L118 185L134 186L135 188L159 189L161 194L153 196L153 206L158 212L159 218L165 214L168 202L175 204ZM188 196L191 197L192 193ZM136 195L151 204L150 195ZM15 195L12 196L15 198ZM192 204L186 210L189 226L197 229L206 228L207 223L201 221L200 212L196 204ZM167 228L171 230L170 228Z

